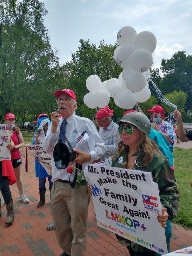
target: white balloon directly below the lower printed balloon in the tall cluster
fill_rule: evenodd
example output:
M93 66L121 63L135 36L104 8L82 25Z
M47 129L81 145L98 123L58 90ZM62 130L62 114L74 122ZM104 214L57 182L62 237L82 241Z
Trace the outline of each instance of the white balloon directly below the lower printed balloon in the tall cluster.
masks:
M139 92L146 85L146 77L142 73L137 73L132 69L124 69L122 76L127 89L132 92Z

